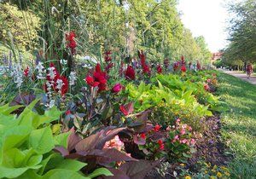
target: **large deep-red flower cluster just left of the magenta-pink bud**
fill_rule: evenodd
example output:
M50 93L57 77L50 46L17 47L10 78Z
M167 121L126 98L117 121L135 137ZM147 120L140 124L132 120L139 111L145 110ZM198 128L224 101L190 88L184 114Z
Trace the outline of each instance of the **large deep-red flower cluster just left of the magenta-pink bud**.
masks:
M85 81L91 87L98 87L99 92L107 90L107 73L102 72L102 68L99 63L96 65L95 71L93 72L93 76L88 75L85 78Z

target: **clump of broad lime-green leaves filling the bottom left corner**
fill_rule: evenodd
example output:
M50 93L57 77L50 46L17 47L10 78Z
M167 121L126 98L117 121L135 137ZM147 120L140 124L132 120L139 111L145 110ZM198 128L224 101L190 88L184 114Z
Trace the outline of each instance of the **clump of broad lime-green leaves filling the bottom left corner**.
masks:
M61 112L53 107L39 115L34 111L38 101L32 101L19 116L12 113L21 106L0 107L0 178L82 179L112 175L102 168L85 176L79 171L85 163L64 159L55 153L55 146L67 147L70 132L53 136L50 123L56 121Z

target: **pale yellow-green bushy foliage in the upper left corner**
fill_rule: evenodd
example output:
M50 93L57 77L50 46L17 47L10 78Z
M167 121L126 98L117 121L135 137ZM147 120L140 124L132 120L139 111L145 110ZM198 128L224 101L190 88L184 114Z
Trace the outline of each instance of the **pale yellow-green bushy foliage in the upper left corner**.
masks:
M15 5L1 3L0 42L13 45L13 38L15 46L20 50L32 49L38 38L39 20L31 11L19 10Z

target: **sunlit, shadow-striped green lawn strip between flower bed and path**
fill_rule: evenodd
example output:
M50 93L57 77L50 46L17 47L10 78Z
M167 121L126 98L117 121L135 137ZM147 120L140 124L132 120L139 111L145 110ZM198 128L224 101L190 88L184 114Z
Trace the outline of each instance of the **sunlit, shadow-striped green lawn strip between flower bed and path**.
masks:
M234 159L231 178L256 178L256 85L220 73L217 94L229 106L222 113L222 136Z

